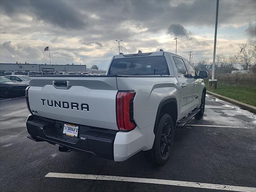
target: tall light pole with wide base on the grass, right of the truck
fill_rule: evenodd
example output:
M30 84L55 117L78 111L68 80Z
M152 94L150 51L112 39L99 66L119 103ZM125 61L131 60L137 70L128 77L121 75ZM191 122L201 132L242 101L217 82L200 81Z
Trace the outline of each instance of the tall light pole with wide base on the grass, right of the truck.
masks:
M219 0L216 0L216 19L215 19L215 32L214 32L214 48L213 48L213 61L212 61L212 79L209 79L209 88L217 88L217 80L214 79L215 73L215 56L216 56L216 40L217 40L217 26L218 26L218 10Z

